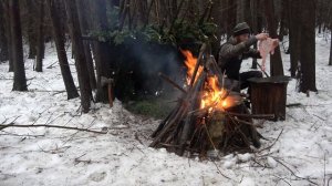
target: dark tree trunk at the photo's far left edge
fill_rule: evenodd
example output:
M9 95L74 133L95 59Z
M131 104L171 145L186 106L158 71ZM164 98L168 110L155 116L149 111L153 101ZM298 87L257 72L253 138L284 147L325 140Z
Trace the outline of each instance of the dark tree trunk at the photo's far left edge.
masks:
M2 4L0 3L0 12L4 12ZM9 60L8 53L8 40L6 38L6 20L4 13L0 13L0 62Z

